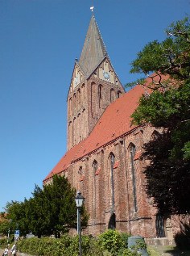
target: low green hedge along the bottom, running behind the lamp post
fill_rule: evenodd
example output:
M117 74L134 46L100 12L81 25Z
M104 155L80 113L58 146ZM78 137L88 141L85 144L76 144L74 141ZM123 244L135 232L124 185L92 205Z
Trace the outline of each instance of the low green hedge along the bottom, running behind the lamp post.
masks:
M140 256L137 250L127 249L130 235L106 230L98 237L82 236L83 256ZM17 242L18 250L35 256L78 256L79 237L64 234L61 238L32 237ZM138 249L138 248L137 248Z

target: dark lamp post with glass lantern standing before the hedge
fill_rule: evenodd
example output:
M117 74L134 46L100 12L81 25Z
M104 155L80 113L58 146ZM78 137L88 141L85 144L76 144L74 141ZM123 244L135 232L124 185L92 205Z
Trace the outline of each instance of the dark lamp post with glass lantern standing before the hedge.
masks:
M76 192L76 207L77 207L77 234L79 235L79 255L82 255L81 247L81 207L85 198L81 195L81 191Z

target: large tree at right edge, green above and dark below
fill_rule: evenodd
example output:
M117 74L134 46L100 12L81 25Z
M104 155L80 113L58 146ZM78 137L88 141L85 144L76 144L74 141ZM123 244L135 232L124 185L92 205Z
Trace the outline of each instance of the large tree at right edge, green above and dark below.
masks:
M162 132L144 145L147 194L161 213L189 213L190 203L190 24L172 23L167 39L147 44L132 62L131 73L144 73L142 95L132 118ZM151 81L151 82L150 82ZM134 83L128 84L133 86Z

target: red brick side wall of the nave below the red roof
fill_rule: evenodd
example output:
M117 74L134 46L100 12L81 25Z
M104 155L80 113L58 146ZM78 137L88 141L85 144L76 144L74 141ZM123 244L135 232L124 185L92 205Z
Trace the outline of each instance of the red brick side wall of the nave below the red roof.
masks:
M112 194L109 154L114 153L114 213L116 229L122 232L155 237L155 208L145 192L144 162L134 161L138 212L134 212L134 191L129 157L129 145L133 143L136 152L142 151L142 143L150 140L154 128L137 128L130 135L118 138L97 152L84 157L68 168L68 180L85 196L85 206L90 214L85 233L97 234L108 229L111 215ZM97 172L93 172L93 161L97 161ZM82 166L83 174L78 174Z

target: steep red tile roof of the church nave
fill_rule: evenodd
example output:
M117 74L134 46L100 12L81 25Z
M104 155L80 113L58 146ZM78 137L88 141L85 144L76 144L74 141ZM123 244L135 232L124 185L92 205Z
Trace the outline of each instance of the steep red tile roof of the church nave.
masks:
M138 106L138 100L144 93L145 90L142 86L135 86L126 94L123 94L121 98L110 104L90 135L84 141L68 150L44 181L51 178L53 174L60 174L67 170L72 162L134 129L135 126L130 123L130 115Z

